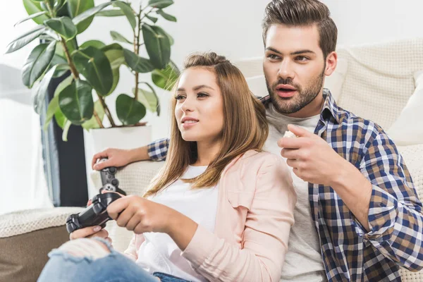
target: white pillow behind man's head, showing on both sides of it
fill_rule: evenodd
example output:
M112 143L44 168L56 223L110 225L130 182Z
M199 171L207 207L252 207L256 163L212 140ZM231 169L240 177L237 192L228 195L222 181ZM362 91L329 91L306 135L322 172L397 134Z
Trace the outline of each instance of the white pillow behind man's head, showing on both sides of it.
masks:
M262 64L262 59L260 61L259 59L244 60L235 64L245 76L245 80L247 80L248 87L250 87L252 94L259 97L264 97L269 94L263 71L259 70L259 64ZM332 75L325 77L324 87L331 90L331 94L333 98L335 98L335 101L338 101L339 97L341 97L342 85L345 80L347 69L348 61L345 59L338 59L335 71L333 71Z

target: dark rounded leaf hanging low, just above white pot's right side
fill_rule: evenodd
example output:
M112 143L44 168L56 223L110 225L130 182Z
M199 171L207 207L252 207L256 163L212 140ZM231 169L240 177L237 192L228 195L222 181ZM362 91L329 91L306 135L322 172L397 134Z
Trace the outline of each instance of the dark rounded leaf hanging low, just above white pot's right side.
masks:
M145 116L145 106L127 94L116 99L116 114L123 125L133 125Z

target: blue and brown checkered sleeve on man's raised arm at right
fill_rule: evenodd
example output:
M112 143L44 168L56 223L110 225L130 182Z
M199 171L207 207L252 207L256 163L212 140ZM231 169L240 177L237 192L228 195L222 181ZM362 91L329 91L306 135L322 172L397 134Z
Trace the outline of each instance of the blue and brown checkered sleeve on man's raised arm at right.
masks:
M372 183L370 231L357 226L359 235L393 262L419 271L423 269L422 202L396 145L383 130L374 134L360 164Z

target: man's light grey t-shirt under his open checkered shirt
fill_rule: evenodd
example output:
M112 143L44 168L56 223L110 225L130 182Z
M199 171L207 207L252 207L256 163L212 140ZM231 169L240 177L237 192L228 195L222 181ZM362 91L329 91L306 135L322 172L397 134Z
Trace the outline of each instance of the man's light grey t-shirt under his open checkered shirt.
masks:
M319 122L320 115L310 118L290 118L279 114L273 104L266 109L266 118L269 122L269 137L264 149L281 156L281 147L278 140L288 130L288 124L295 124L311 133ZM324 265L321 259L319 235L317 234L309 204L308 183L298 178L290 168L297 204L295 204L295 223L290 231L288 252L283 264L281 281L320 282L327 281Z

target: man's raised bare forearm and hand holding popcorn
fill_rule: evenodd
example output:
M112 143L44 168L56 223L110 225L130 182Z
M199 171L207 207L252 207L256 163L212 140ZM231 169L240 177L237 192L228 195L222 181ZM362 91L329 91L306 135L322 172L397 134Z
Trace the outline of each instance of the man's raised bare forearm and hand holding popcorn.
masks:
M298 137L281 138L278 146L283 147L281 156L293 167L293 173L309 183L331 186L369 231L372 183L321 137L295 125L288 125L288 129Z

